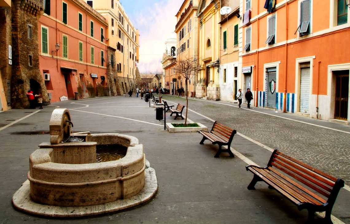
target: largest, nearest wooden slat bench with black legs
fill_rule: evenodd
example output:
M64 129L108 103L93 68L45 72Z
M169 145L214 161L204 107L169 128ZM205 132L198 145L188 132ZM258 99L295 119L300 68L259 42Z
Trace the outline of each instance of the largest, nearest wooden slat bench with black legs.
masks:
M331 211L344 181L323 173L303 162L275 150L267 166L246 166L254 174L248 185L254 190L257 181L264 181L269 188L293 202L299 211L307 209L308 223L313 222L316 211L325 211L325 223L331 222Z

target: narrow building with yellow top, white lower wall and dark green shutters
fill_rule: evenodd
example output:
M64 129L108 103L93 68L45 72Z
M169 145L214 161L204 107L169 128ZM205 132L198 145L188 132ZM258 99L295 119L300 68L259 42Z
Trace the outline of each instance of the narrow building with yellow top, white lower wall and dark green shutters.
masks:
M220 23L220 100L232 102L238 92L239 66L239 0L221 0L231 12L221 15Z

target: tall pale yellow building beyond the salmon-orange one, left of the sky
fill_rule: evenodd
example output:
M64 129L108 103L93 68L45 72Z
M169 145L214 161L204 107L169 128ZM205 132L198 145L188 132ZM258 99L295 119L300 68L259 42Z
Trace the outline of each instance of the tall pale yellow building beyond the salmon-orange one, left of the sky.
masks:
M86 1L103 15L108 23L106 42L116 49L115 61L117 74L124 93L136 89L136 62L139 61L139 30L128 18L119 0Z

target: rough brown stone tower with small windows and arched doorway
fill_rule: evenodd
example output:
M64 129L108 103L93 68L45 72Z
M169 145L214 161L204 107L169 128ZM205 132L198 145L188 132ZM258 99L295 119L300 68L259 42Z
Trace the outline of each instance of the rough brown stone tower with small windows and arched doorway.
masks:
M28 90L42 92L43 104L50 104L47 90L40 73L38 52L38 19L43 12L43 0L12 0L12 108L29 108ZM28 38L27 25L32 26L32 38ZM29 55L32 65L29 65Z

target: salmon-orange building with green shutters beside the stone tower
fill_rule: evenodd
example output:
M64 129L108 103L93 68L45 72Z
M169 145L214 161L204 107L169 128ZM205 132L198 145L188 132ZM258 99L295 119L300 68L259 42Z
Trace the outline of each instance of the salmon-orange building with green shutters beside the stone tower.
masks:
M107 96L106 19L82 0L45 0L38 25L40 70L51 102Z

